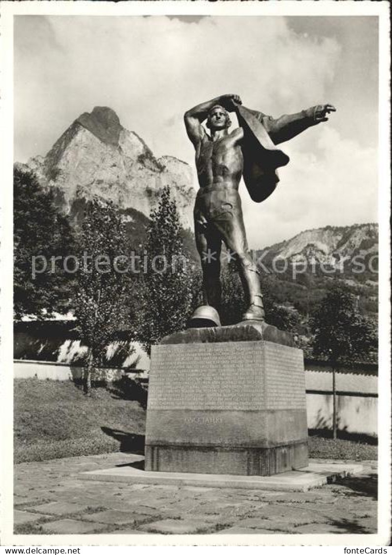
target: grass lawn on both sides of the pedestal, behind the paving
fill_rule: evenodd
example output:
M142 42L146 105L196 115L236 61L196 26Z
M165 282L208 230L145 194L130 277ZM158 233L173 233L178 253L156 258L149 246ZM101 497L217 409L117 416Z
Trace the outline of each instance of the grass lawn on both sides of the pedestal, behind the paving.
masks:
M140 390L97 388L88 398L73 382L14 381L14 462L113 451L144 453L146 411ZM142 402L131 400L141 398ZM369 460L377 446L309 437L314 458Z

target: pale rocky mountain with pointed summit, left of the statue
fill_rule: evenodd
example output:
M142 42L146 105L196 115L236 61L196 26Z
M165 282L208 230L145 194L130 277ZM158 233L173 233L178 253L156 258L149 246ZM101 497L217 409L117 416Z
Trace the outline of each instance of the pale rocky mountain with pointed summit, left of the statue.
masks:
M196 190L190 166L170 156L155 158L111 108L96 106L81 114L44 157L22 166L33 170L43 186L56 188L59 207L71 215L86 201L100 198L149 216L169 186L182 225L193 227Z

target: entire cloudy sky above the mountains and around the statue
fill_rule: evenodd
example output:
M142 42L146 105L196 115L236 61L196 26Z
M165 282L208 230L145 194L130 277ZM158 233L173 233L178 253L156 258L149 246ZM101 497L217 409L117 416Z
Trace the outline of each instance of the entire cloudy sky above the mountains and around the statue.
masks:
M193 166L182 115L195 104L235 93L278 117L332 103L329 122L282 145L291 161L269 199L241 185L250 246L377 220L376 17L17 16L14 56L19 162L96 105Z

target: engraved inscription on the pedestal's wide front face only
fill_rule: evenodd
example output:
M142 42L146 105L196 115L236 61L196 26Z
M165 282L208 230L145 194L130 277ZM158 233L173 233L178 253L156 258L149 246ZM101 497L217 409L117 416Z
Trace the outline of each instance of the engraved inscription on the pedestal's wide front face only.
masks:
M153 350L148 407L255 410L264 403L261 345L160 345Z

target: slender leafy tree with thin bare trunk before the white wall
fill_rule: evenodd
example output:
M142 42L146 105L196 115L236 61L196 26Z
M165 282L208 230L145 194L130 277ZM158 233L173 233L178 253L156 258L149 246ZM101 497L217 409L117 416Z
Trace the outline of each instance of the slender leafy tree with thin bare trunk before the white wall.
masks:
M116 331L128 325L127 303L132 280L125 225L111 203L93 201L80 233L75 316L81 342L87 346L83 388L91 395L95 370Z

